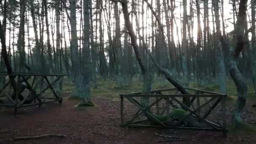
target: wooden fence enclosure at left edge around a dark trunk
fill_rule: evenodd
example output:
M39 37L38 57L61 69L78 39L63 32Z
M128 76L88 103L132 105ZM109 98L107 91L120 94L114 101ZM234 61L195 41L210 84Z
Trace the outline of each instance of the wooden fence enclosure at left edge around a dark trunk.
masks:
M15 77L16 90L9 76ZM20 107L28 107L58 101L62 102L59 91L62 89L64 75L45 75L15 72L12 75L1 72L6 81L0 88L0 106L13 107L16 114ZM56 90L56 88L59 88Z

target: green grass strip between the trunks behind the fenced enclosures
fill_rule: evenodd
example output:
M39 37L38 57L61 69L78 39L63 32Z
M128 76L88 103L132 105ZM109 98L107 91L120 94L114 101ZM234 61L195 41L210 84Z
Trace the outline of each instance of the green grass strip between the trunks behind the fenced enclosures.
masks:
M142 87L142 80L139 78L133 78L133 82L131 85L126 85L120 87L117 82L113 79L107 78L98 78L94 83L92 83L93 87L91 88L92 96L101 96L113 101L119 100L119 94L123 93L134 93L140 92ZM211 83L206 87L200 87L196 82L191 82L189 84L190 88L202 89L205 91L213 91L220 92L219 85L215 81L211 81ZM174 88L171 83L165 80L164 77L154 77L154 82L152 84L152 90L159 90L165 88ZM74 90L74 83L68 78L64 79L63 85L63 93L71 94L70 100L80 101L79 98L75 98L72 96L72 92ZM237 98L237 89L232 80L227 81L227 94L228 100L235 100ZM253 86L248 84L248 98L256 98L256 94L254 93Z

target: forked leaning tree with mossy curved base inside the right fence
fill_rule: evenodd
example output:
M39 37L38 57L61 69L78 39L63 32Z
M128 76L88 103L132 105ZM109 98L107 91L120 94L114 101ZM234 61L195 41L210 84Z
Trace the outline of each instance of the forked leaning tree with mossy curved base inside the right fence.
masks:
M151 90L151 86L152 86L152 80L153 80L153 76L152 74L149 72L146 64L144 63L143 59L141 58L141 52L139 50L139 45L137 43L137 38L136 38L136 34L133 31L133 25L131 24L131 20L130 20L130 13L128 12L128 0L111 0L114 2L120 2L123 8L123 16L124 16L124 20L125 20L125 27L127 27L128 29L128 33L131 37L131 45L133 46L133 50L134 53L136 55L136 59L139 63L139 66L141 68L141 72L142 72L142 77L143 77L143 86L142 86L142 94L149 94L150 90ZM146 1L147 2L147 1ZM140 36L141 37L141 36ZM165 75L166 79L171 82L181 93L183 94L188 94L188 92L176 81L174 80L170 73L168 72L167 69L160 67L159 64L157 64L155 62L155 60L153 59L152 55L150 54L149 51L147 51L147 53L149 54L149 56L151 57L153 63L155 64L155 66L157 67L157 69L163 73L163 75ZM141 103L142 106L144 108L148 107L149 105L149 98L148 97L143 97L141 98ZM187 111L185 111L184 109L182 109L181 107L178 107L176 109L173 109L172 112L170 112L167 115L154 115L152 114L152 112L150 111L150 109L147 109L145 111L145 115L146 117L153 123L159 123L160 122L164 122L167 121L167 117L169 117L168 120L171 119L176 119L176 120L181 120L183 117L185 117L188 114ZM191 126L197 126L200 127L201 124L197 123L197 121L195 120L195 117L193 116L189 116L186 120L186 123L188 125ZM160 123L159 123L160 124Z

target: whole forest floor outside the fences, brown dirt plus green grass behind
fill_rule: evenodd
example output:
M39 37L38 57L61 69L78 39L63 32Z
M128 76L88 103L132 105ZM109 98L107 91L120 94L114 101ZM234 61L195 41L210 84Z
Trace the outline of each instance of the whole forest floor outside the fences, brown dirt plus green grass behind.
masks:
M157 80L158 81L158 80ZM161 80L159 80L161 81ZM170 88L168 82L156 82L153 89ZM196 84L192 87L198 88ZM230 131L227 138L221 132L164 130L157 128L125 128L120 126L119 93L139 91L141 83L123 88L111 80L99 80L92 88L94 107L77 108L78 100L69 99L72 95L72 83L64 83L64 101L62 104L50 103L40 108L24 107L18 115L13 109L0 108L0 144L255 144L256 143L256 97L249 96L244 109L244 120L250 127L248 131ZM206 90L216 91L216 85L209 85ZM232 99L234 85L229 85ZM249 93L251 88L249 87ZM253 99L253 97L255 99ZM227 124L230 125L232 107L235 100L227 101ZM184 141L157 142L169 140L154 134L182 137ZM12 141L18 136L39 136L61 134L65 138L40 138L33 140Z

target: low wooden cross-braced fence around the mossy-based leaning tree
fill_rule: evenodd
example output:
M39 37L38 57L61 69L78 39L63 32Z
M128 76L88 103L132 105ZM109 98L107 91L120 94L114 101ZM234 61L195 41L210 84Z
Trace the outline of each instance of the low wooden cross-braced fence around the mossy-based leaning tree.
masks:
M224 136L226 136L225 107L227 95L193 88L186 89L189 93L195 94L179 94L176 88L151 91L149 95L142 95L141 93L120 94L121 125L126 127L162 127L168 129L222 131ZM143 107L141 98L146 97L150 98L149 104L147 107ZM190 98L190 106L182 103L183 97ZM177 107L182 107L182 109L187 111L187 115L184 115L184 117L178 120L171 121L166 114L169 114ZM213 115L212 113L218 114ZM145 114L150 115L151 119L157 121L158 124L148 120ZM160 121L157 115L166 115L166 121ZM202 123L203 126L191 127L184 124L184 120L191 116L199 123Z

